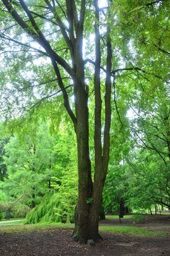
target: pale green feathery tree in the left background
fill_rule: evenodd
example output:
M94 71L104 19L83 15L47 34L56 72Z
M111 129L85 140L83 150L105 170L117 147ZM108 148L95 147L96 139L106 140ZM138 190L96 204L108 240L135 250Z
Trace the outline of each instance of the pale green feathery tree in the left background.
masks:
M24 135L11 137L4 156L8 177L1 183L9 196L25 197L25 203L32 208L40 203L51 189L55 174L53 146L54 138L45 123L32 126L32 131Z

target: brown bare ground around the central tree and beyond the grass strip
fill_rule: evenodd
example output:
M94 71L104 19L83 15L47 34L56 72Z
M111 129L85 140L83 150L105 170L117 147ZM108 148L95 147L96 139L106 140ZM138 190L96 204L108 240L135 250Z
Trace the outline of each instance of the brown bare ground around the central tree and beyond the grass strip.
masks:
M163 231L168 227L170 216L148 217L145 224L137 224L148 230ZM106 219L101 224L132 226L130 219ZM139 237L102 233L104 240L95 246L74 242L70 229L53 231L0 234L1 256L158 256L170 255L170 237Z

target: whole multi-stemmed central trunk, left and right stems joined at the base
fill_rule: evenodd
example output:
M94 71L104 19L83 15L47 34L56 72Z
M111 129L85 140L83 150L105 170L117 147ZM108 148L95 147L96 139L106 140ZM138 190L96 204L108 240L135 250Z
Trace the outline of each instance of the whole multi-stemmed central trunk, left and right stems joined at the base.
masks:
M98 0L95 5L95 176L94 185L91 181L91 164L89 157L89 126L88 126L88 94L84 84L84 66L82 58L82 35L77 36L77 47L75 48L75 67L77 77L75 79L75 112L77 117L77 152L79 169L79 201L75 213L74 238L80 243L86 243L88 239L98 241L101 236L98 232L100 207L104 182L106 179L109 162L109 131L111 125L111 38L110 30L107 28L107 60L106 60L106 83L105 83L105 118L104 135L101 130L101 88L100 88L100 9ZM76 53L77 50L77 53ZM81 77L81 78L80 78ZM101 138L103 136L103 147Z

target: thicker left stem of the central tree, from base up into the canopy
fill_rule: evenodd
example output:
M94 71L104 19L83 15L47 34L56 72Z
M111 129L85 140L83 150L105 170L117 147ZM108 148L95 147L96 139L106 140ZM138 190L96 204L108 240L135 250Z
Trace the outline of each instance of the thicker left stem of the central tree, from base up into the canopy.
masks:
M84 6L85 8L85 6ZM83 7L82 7L83 20ZM82 53L83 24L79 23L75 43L74 60L74 97L75 115L77 118L77 156L79 177L79 198L75 211L75 228L73 237L80 243L87 243L89 226L89 203L93 191L91 180L91 162L89 153L89 124L88 124L88 86L85 84L84 61Z

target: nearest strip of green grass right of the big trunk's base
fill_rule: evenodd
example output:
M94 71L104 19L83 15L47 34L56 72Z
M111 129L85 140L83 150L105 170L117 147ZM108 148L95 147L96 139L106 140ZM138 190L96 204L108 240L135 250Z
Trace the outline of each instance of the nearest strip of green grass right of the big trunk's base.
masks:
M129 227L129 226L100 226L100 231L119 233L124 235L133 235L133 236L158 236L164 237L167 236L168 232L157 232L157 231L147 231L141 227Z

